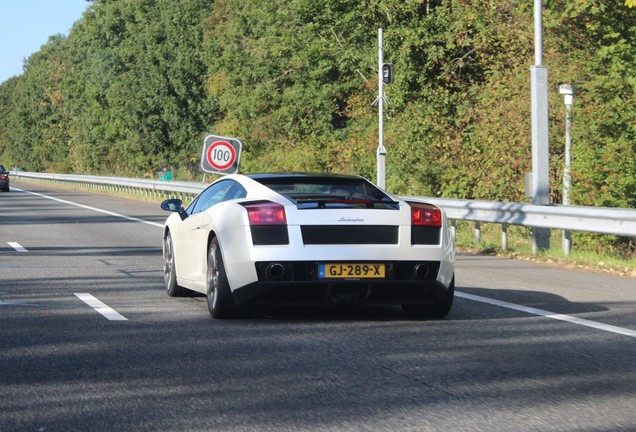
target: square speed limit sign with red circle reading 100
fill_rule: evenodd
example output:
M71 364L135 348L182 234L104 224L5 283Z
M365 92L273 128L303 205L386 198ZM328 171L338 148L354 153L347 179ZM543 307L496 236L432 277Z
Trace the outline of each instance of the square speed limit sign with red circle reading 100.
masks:
M242 142L238 138L207 135L203 140L201 169L209 173L237 173L241 147Z

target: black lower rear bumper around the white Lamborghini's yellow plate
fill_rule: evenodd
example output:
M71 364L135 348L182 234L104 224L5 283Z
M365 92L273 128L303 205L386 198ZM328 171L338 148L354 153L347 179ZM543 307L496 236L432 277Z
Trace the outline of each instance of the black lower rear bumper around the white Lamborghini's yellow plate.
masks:
M284 271L268 272L271 264L281 264ZM237 304L264 305L434 304L450 289L437 280L439 262L385 264L383 279L320 279L316 262L257 263L259 280L234 289L234 300Z

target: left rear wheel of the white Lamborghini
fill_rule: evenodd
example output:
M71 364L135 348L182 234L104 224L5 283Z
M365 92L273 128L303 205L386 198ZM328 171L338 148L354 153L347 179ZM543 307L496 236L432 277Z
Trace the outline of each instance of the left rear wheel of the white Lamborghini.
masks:
M212 239L208 248L207 285L208 310L212 318L233 318L236 314L234 298L216 237Z

